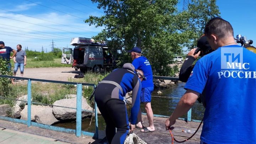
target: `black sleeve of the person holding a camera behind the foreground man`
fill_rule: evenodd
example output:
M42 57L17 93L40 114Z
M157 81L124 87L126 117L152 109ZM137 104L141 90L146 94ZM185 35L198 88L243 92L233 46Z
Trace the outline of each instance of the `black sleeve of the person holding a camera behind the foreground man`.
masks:
M192 56L187 56L186 60L181 66L180 69L180 75L179 75L179 80L182 82L187 82L191 71L193 70L194 66L192 65L196 59Z

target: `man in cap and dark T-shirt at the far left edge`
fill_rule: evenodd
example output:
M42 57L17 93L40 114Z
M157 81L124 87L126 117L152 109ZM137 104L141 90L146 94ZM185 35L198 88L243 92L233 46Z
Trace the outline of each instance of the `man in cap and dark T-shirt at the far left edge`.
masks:
M13 52L12 57L11 57L11 52ZM2 57L3 59L5 59L7 62L9 62L8 64L8 68L11 71L11 63L10 63L10 59L12 59L13 57L15 57L17 51L12 49L11 47L6 47L3 41L0 41L0 57ZM14 80L11 79L12 84L14 84Z

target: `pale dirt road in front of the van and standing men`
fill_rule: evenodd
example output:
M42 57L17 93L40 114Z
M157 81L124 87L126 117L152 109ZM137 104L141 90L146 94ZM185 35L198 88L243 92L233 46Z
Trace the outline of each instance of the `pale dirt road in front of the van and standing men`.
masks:
M80 71L75 71L74 68L64 67L64 68L28 68L24 69L24 78L34 78L34 79L45 79L45 80L59 80L68 81L71 78L79 74ZM20 77L20 70L17 71L17 77ZM21 80L15 80L17 83L21 83ZM25 82L25 81L24 81Z

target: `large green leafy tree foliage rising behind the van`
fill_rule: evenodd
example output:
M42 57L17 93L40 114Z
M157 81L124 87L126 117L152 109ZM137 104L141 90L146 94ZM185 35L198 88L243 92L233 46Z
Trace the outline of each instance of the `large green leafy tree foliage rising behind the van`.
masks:
M196 32L200 26L192 25L191 11L177 10L178 0L91 1L105 13L85 20L89 25L103 27L94 39L111 39L109 45L112 48L121 46L128 50L134 46L141 47L156 75L173 75L169 65L174 55L181 54L183 47L190 46L193 39L198 38ZM125 63L128 59L129 55L124 54L120 62Z

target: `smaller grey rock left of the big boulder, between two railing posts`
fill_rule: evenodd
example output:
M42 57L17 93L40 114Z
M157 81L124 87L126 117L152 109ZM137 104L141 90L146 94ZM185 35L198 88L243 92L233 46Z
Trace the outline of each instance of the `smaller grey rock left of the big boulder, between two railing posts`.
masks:
M37 113L34 118L36 119L37 123L43 123L52 125L56 122L58 122L58 119L56 119L52 113L52 108L49 106L42 106L44 109L43 111L40 111Z

